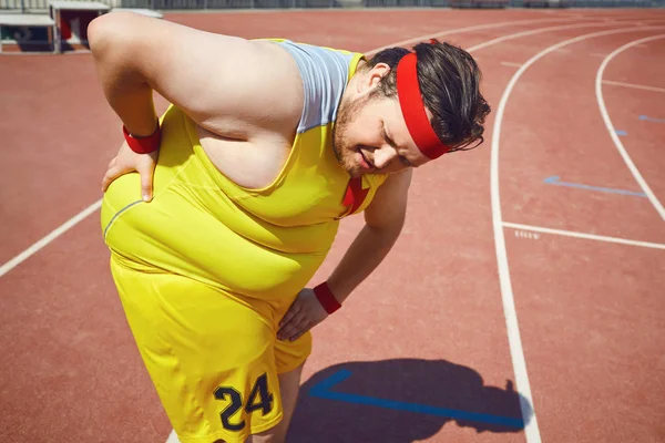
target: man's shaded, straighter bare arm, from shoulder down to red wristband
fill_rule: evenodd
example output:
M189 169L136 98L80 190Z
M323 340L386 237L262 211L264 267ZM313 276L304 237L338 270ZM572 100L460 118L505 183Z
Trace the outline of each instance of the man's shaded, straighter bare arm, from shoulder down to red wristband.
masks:
M391 175L365 209L365 227L330 275L328 286L340 303L386 258L407 214L411 169Z

